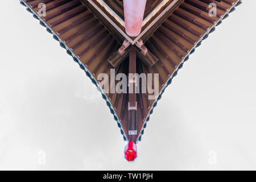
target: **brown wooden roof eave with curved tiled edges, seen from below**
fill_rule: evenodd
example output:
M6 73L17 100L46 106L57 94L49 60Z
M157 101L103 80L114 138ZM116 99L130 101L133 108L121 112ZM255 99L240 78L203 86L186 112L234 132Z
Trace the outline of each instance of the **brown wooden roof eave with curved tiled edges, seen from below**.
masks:
M241 1L147 0L142 33L135 38L125 33L122 1L20 0L20 3L85 71L100 90L123 139L136 144L141 141L150 115L172 78ZM40 3L46 5L46 16L39 15ZM216 16L209 15L210 3L217 7ZM159 94L155 100L149 100L148 92L106 93L97 77L100 73L110 76L112 68L116 70L115 76L159 73Z

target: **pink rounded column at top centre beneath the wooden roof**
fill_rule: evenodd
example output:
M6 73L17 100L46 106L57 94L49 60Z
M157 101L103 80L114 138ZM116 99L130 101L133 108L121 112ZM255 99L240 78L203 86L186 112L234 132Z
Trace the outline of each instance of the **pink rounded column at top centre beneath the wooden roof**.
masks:
M125 30L129 36L141 33L146 0L123 0L125 10Z

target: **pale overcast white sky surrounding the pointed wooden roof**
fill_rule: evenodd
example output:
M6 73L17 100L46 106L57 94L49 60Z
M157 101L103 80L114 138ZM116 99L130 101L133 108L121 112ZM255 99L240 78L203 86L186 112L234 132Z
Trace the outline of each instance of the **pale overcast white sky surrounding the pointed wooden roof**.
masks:
M18 0L0 5L0 169L256 169L255 1L243 1L190 56L133 163L71 56Z

